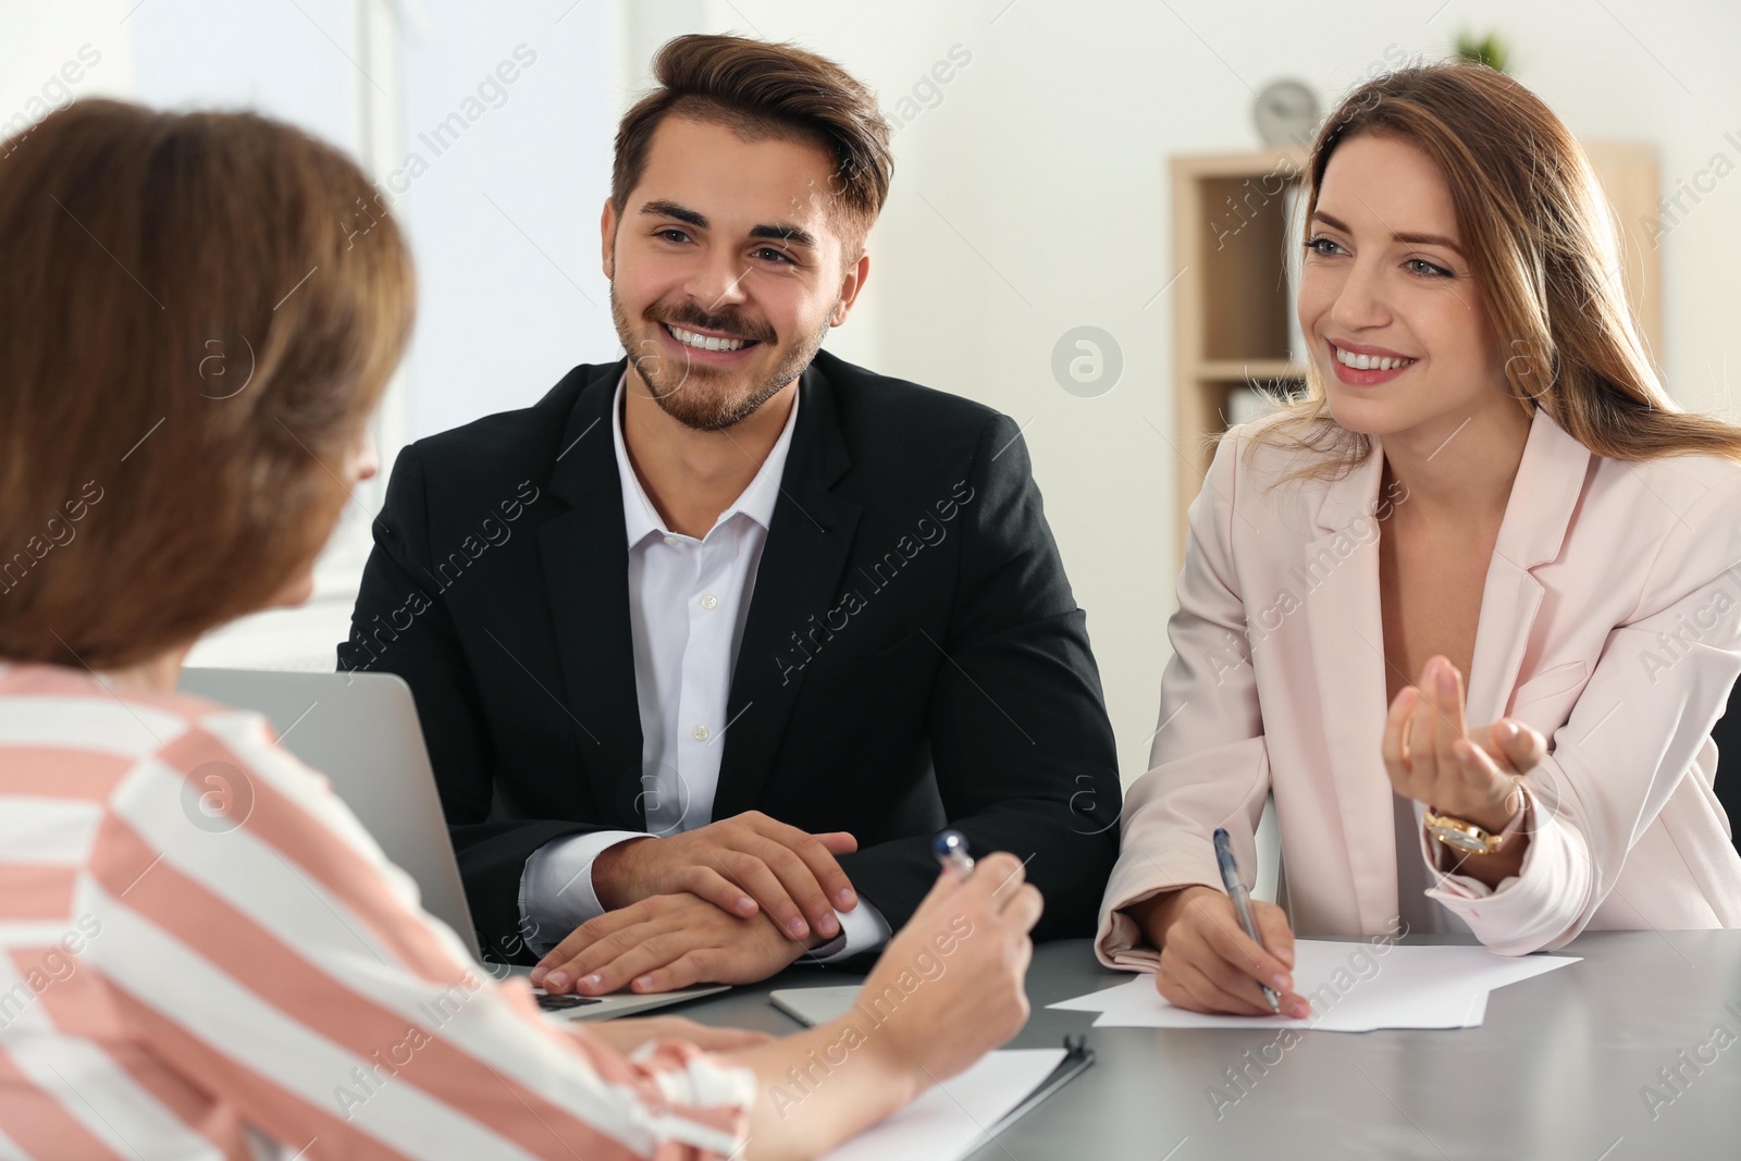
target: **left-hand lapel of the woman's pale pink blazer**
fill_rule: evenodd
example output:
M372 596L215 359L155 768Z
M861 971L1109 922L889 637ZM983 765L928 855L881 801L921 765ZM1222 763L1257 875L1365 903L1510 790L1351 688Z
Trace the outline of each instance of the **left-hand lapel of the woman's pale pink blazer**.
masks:
M1374 508L1384 451L1335 480L1316 513L1320 536L1288 574L1311 637L1313 679L1323 707L1330 783L1348 851L1354 914L1339 928L1384 931L1396 914L1396 855L1384 736L1384 623L1379 607L1379 536Z

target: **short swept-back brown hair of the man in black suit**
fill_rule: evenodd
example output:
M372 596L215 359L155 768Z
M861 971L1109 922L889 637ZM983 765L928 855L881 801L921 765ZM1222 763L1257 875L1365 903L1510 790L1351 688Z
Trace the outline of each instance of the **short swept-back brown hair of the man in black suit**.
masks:
M658 50L653 78L658 87L616 129L611 204L618 216L646 171L653 132L676 115L724 125L743 141L797 139L825 150L836 167L829 193L850 240L864 242L888 198L895 155L876 99L846 70L790 44L695 33ZM846 254L855 259L857 252Z

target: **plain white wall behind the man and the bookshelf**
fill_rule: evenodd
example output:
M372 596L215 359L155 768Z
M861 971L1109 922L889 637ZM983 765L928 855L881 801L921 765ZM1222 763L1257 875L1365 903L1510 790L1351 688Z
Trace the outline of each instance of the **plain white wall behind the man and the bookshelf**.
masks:
M1511 71L1574 132L1656 141L1664 186L1717 151L1741 164L1741 5L1722 0L1673 16L1640 0L1605 0L1607 12L1584 0L672 7L691 10L695 31L792 38L830 56L884 111L952 45L971 52L935 108L895 136L895 186L870 238L872 325L855 317L829 346L1027 425L1126 778L1147 764L1179 567L1172 301L1154 298L1179 270L1166 158L1255 148L1252 91L1278 77L1304 80L1328 106L1389 45L1442 56L1459 28L1494 28L1515 47ZM646 59L651 45L625 50ZM1741 176L1703 197L1663 238L1661 357L1684 404L1727 407L1725 362L1741 383ZM1099 399L1065 393L1050 371L1053 343L1083 324L1109 331L1125 357Z

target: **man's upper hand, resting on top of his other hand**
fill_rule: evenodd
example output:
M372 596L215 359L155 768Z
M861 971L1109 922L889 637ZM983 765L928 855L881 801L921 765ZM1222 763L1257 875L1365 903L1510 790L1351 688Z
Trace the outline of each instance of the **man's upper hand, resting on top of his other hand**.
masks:
M766 912L794 940L811 931L832 940L841 933L834 910L858 905L834 856L857 849L844 830L813 836L747 811L684 834L618 842L594 860L592 888L611 910L688 893L743 919Z

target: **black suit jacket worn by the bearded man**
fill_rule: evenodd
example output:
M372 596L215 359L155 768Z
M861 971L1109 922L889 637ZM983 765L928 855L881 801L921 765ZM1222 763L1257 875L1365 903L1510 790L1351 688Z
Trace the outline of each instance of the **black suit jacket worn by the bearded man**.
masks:
M406 447L339 646L341 668L411 684L474 921L503 959L528 957L533 851L646 825L609 426L623 366ZM1118 764L1018 428L827 353L799 392L714 818L853 832L841 865L897 928L947 822L973 851L1029 860L1039 938L1090 935Z

